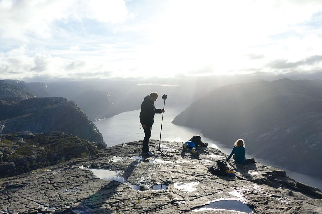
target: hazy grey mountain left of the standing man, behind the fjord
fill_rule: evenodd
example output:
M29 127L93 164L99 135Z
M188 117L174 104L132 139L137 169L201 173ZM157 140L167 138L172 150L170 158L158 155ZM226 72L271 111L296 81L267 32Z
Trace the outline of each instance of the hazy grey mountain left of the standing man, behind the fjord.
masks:
M105 91L84 91L73 100L92 121L102 120L119 113L113 110L113 103Z

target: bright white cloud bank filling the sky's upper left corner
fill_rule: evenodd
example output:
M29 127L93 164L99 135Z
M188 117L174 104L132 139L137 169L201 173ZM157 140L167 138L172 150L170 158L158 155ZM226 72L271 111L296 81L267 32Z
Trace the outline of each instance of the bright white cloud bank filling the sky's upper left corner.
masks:
M49 38L56 32L56 21L68 23L90 19L122 23L127 16L128 11L123 0L2 0L0 35L5 39L22 41L28 41L30 35Z

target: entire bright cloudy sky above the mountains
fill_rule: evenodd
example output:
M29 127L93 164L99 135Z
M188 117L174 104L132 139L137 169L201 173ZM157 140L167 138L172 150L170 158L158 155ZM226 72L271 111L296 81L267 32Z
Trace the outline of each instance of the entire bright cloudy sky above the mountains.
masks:
M0 79L322 71L322 0L0 0Z

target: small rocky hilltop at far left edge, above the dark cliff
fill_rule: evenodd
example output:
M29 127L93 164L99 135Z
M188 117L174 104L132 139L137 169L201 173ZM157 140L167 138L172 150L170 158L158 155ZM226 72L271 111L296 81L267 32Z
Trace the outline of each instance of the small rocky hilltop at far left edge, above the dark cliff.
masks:
M7 84L6 81L0 80L0 99L2 98L20 98L20 99L28 99L36 97L31 91L28 89Z

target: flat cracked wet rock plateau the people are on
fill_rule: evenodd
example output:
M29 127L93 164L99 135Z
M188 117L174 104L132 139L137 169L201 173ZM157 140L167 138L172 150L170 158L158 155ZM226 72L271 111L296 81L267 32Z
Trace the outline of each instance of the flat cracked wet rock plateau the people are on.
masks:
M151 140L150 149L158 145ZM162 141L166 156L147 158L136 151L141 146L142 141L124 143L6 178L0 181L0 212L62 213L66 207L102 214L322 212L321 190L280 169L259 163L244 169L229 161L236 176L215 176L207 168L227 158L220 150L200 148L195 159L181 152L181 142Z

